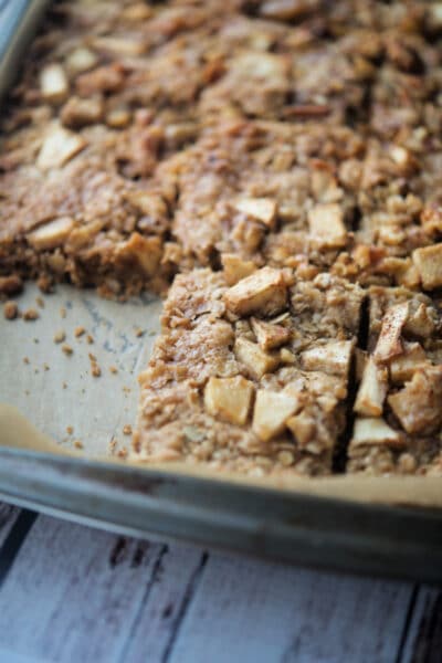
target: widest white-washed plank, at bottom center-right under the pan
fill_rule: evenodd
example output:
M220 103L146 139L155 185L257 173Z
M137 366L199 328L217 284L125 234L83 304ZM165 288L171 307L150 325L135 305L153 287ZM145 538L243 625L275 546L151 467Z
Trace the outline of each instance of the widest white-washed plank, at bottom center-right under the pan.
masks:
M391 663L412 586L213 555L171 663Z

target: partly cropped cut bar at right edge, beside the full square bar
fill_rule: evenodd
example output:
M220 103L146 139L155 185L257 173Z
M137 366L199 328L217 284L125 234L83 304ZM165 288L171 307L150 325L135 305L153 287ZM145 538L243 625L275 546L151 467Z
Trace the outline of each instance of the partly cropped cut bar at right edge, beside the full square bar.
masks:
M442 474L442 312L406 288L369 291L369 356L348 472ZM382 351L380 351L380 349Z

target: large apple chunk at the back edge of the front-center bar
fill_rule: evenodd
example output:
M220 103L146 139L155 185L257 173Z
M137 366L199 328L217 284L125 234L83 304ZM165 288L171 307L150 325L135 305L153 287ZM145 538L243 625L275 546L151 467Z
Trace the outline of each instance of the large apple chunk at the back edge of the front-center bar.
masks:
M224 294L225 306L236 315L272 315L287 302L287 283L282 270L262 267L242 278Z

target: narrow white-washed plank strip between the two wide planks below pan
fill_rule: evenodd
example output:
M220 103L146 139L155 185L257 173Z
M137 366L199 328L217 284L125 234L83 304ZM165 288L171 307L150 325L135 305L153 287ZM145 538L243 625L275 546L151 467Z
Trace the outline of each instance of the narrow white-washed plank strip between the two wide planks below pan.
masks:
M203 554L198 548L171 546L161 558L156 582L127 642L125 663L162 661L192 594L192 579ZM122 659L123 660L123 659Z

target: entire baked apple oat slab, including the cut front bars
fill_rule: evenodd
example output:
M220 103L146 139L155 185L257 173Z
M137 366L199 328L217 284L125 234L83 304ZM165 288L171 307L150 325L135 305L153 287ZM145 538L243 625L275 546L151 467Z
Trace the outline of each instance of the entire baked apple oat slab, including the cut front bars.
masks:
M6 103L0 294L168 291L133 457L442 473L442 4L62 1Z

